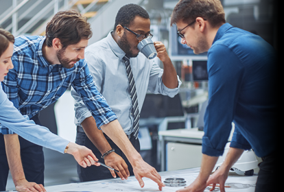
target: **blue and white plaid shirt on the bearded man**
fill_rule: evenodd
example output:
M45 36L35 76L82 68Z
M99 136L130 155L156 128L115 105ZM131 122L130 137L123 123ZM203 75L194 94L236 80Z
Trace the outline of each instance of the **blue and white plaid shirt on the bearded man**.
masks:
M2 82L3 91L14 106L31 118L73 86L95 117L98 128L117 119L106 99L97 91L86 61L76 62L72 69L61 64L51 65L43 57L44 42L43 36L20 36L15 40L14 69ZM0 125L0 132L12 134L3 125Z

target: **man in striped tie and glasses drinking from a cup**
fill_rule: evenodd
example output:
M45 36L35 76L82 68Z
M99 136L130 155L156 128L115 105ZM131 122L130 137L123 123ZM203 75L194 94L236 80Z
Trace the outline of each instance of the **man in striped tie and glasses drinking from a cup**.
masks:
M85 51L97 90L106 98L137 151L140 151L137 138L139 114L147 91L174 97L181 84L163 43L154 42L163 69L139 53L137 45L145 38L152 38L149 15L141 6L128 4L119 9L113 31L106 38L88 46ZM125 154L104 132L95 128L96 120L78 93L72 90L71 94L76 99L76 143L92 149L95 156L106 165L119 169L117 175L122 180L133 175L135 170ZM94 166L91 169L78 167L78 174L81 181L116 178L115 171L95 169Z

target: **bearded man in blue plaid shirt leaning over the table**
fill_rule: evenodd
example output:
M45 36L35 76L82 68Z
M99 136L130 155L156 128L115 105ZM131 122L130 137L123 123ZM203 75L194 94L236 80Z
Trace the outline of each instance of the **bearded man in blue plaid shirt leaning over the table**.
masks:
M102 129L126 154L141 187L141 178L147 177L157 182L161 189L164 186L161 176L143 161L124 134L117 116L97 91L84 60L84 49L91 35L91 27L84 16L75 11L66 11L58 12L51 19L45 37L19 36L15 40L12 56L14 69L2 82L3 90L23 115L40 124L38 112L57 101L69 86L73 86L91 111L97 128ZM33 188L34 182L44 183L43 148L19 136L20 157L20 149L12 147L16 146L12 143L15 136L18 137L9 128L0 125L0 191L5 191L8 162L12 173L25 172L25 178L12 175L15 186L36 190ZM4 143L10 146L6 151Z

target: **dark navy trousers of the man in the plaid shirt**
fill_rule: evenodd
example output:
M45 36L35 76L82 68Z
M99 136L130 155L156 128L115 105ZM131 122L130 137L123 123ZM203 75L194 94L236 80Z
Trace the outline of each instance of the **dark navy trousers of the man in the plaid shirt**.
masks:
M38 116L33 117L32 120L40 125ZM23 164L23 171L25 178L29 182L36 182L37 184L44 184L45 170L43 147L31 143L21 136L19 136L21 146L21 160ZM5 143L3 134L0 134L0 191L6 191L6 184L9 173L9 165L5 152Z

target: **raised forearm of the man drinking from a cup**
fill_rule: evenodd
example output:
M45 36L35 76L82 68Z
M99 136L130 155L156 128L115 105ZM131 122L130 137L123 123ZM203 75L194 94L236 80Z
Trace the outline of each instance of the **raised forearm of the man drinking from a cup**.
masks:
M176 69L174 69L174 65L171 63L169 58L163 61L164 72L162 76L163 84L167 86L167 88L177 88L178 87L178 77L176 74Z

